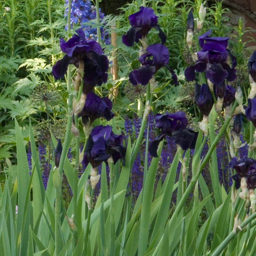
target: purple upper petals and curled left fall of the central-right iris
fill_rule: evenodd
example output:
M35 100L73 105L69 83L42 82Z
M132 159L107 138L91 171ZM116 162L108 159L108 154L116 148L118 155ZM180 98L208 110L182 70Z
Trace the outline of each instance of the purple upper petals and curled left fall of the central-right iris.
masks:
M165 136L172 136L172 133L177 130L183 130L187 127L188 120L185 112L179 111L176 113L166 113L164 115L156 114L155 127L161 129L161 133L149 145L150 155L157 157L157 147Z

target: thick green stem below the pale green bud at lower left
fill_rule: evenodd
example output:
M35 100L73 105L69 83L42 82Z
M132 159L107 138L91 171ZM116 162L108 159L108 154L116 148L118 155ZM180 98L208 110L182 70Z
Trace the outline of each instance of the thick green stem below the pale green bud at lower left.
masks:
M61 189L56 189L55 191L55 256L58 256L61 247Z

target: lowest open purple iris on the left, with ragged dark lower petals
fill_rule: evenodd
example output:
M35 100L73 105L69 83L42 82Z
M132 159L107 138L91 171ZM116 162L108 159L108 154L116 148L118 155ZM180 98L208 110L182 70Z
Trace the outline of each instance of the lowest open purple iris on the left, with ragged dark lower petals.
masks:
M86 145L83 163L96 168L103 161L107 164L112 156L114 164L122 158L125 165L126 148L122 144L123 136L114 134L111 126L95 126Z

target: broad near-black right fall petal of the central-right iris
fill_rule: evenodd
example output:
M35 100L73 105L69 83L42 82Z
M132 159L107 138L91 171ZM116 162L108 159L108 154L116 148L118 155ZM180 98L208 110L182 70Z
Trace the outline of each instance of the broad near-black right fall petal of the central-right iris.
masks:
M172 137L175 139L175 143L179 145L183 150L194 149L198 132L191 129L183 129L172 132Z

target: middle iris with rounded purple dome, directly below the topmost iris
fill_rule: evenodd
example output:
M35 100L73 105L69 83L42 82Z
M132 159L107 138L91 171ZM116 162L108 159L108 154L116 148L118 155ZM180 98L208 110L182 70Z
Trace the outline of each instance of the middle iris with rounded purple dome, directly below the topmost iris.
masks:
M166 67L170 70L175 85L178 84L175 72L167 66L169 62L168 49L162 44L152 44L147 47L146 51L147 53L141 55L139 58L142 66L130 72L130 82L133 85L147 85L157 70L161 67ZM152 59L150 57L152 57Z

